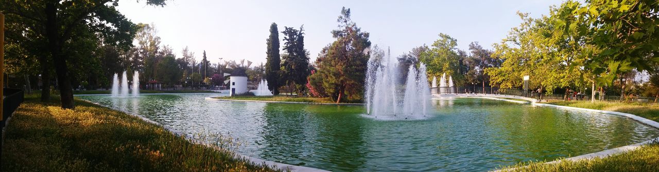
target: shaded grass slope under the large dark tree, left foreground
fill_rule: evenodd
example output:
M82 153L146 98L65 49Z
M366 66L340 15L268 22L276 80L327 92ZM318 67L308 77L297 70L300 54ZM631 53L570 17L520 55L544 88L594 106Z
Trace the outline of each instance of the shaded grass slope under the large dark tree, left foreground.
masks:
M2 171L273 171L235 158L235 139L202 133L188 141L82 100L63 110L56 99L27 95L6 128Z

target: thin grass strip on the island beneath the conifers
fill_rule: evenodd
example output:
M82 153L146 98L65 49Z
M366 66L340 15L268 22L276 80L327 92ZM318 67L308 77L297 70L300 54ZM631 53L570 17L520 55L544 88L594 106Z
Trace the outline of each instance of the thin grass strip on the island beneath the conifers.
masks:
M235 97L215 97L223 100L259 100L259 101L277 101L277 102L313 102L313 103L335 103L331 98L316 97L290 97L286 95L277 96L235 96Z

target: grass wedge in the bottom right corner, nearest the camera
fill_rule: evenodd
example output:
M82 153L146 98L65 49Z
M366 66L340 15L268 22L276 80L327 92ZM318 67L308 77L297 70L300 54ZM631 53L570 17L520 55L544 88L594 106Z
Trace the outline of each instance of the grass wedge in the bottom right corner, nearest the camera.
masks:
M659 144L646 144L637 150L607 158L560 160L554 164L527 162L503 168L502 171L656 171L659 169Z

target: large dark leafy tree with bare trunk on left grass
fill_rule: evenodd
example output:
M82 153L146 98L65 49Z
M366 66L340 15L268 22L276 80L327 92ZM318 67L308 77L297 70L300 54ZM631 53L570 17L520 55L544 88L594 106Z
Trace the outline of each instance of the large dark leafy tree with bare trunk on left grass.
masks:
M148 0L149 5L165 5L162 0ZM74 108L71 77L67 61L71 54L64 53L72 38L85 34L104 37L105 43L130 45L134 24L116 10L117 1L2 1L2 12L12 17L32 21L38 36L47 40L60 90L62 108ZM5 9L6 8L6 9ZM87 34L88 36L90 34ZM74 47L68 47L74 48ZM45 57L43 57L45 58ZM47 60L42 60L43 62Z

